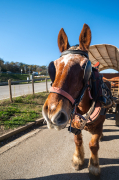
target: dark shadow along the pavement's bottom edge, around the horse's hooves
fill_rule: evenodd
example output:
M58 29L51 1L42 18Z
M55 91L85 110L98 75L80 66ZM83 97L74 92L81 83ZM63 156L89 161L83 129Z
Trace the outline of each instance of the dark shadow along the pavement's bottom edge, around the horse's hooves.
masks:
M87 168L88 159L85 159L83 169ZM44 177L36 177L30 179L17 179L17 180L118 180L119 179L119 159L99 159L101 166L100 176L94 176L90 173L66 173L66 174L55 174ZM103 166L108 165L107 167ZM113 166L114 165L114 166ZM15 179L9 179L15 180Z

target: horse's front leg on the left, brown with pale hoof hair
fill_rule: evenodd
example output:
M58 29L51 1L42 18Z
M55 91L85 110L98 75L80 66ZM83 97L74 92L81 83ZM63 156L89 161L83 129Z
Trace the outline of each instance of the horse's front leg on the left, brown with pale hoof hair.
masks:
M84 163L84 148L82 141L82 134L74 135L75 152L73 154L73 167L75 170L79 170Z

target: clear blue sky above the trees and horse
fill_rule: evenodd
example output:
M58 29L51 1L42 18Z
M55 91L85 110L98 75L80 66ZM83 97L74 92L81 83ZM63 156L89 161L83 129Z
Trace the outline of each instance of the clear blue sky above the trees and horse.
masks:
M91 45L119 48L118 0L0 0L0 58L48 65L60 56L59 30L75 45L84 23L92 31Z

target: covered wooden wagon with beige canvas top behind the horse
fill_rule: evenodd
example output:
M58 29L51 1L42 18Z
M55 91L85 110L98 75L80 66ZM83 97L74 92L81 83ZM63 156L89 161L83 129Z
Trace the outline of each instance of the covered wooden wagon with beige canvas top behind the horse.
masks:
M89 59L92 66L97 62L100 63L99 71L105 69L115 69L119 72L119 49L110 44L98 44L92 45L89 48ZM107 79L111 83L112 95L115 98L116 107L110 110L112 112L115 109L116 113L116 125L119 126L119 77Z

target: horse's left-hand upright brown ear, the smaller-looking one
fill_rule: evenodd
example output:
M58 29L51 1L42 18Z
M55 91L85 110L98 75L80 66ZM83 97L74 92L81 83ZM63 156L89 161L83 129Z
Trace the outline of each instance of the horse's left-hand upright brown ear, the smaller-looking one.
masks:
M67 35L63 28L60 29L58 34L58 47L60 52L63 52L70 47L68 43Z

